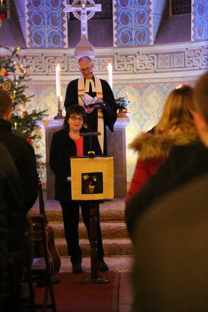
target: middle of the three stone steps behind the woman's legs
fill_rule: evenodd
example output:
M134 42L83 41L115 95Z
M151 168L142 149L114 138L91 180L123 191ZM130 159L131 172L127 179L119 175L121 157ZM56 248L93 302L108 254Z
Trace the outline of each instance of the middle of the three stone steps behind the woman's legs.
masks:
M65 238L63 222L49 222L55 231L55 238ZM101 222L102 238L129 237L125 222ZM87 229L83 222L79 222L79 237L88 238Z

